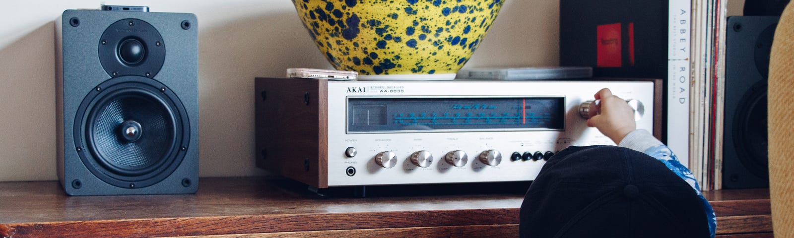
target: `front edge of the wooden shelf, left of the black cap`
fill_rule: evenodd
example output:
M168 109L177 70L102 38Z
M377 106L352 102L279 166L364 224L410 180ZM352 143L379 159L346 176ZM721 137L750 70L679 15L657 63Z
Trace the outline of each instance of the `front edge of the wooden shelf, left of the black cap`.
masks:
M207 236L340 229L518 224L518 209L179 217L0 225L3 237Z

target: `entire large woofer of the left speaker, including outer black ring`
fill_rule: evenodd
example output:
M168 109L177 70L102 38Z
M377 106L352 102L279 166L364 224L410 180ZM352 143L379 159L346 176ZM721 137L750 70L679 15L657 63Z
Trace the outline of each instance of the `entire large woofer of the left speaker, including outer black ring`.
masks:
M83 164L102 181L141 188L168 177L190 141L187 114L175 94L141 76L94 87L75 117Z

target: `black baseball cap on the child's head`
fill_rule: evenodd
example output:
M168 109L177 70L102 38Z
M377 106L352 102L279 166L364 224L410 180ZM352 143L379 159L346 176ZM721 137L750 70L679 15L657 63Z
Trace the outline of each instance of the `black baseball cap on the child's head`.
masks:
M543 166L521 205L520 237L709 237L684 179L642 152L571 146Z

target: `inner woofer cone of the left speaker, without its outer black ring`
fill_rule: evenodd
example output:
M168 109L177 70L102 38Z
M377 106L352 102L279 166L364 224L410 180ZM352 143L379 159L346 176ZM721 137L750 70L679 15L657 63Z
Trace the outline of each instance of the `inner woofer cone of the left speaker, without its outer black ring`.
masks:
M106 94L86 121L88 147L107 170L144 175L175 148L174 113L157 94L125 87Z

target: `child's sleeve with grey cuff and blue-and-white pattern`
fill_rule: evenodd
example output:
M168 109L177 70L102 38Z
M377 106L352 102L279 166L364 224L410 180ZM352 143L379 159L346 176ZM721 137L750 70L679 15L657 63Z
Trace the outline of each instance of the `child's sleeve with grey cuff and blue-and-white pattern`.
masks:
M694 189L698 197L700 197L700 202L703 204L703 209L705 209L711 237L713 238L715 236L715 231L717 229L717 216L714 213L714 209L711 208L711 205L708 203L706 198L703 198L703 194L700 193L700 186L698 186L695 176L692 175L692 171L689 171L687 167L684 167L684 165L678 161L678 157L673 153L672 150L670 150L670 148L668 148L665 144L662 144L661 141L657 140L650 134L650 132L644 129L637 129L633 132L630 132L628 135L623 137L623 140L620 141L619 146L630 148L638 152L643 152L646 155L650 155L653 158L659 159L659 161L664 163L665 166L670 169L670 171L676 173L676 175L684 179L689 186L692 186L692 189Z

